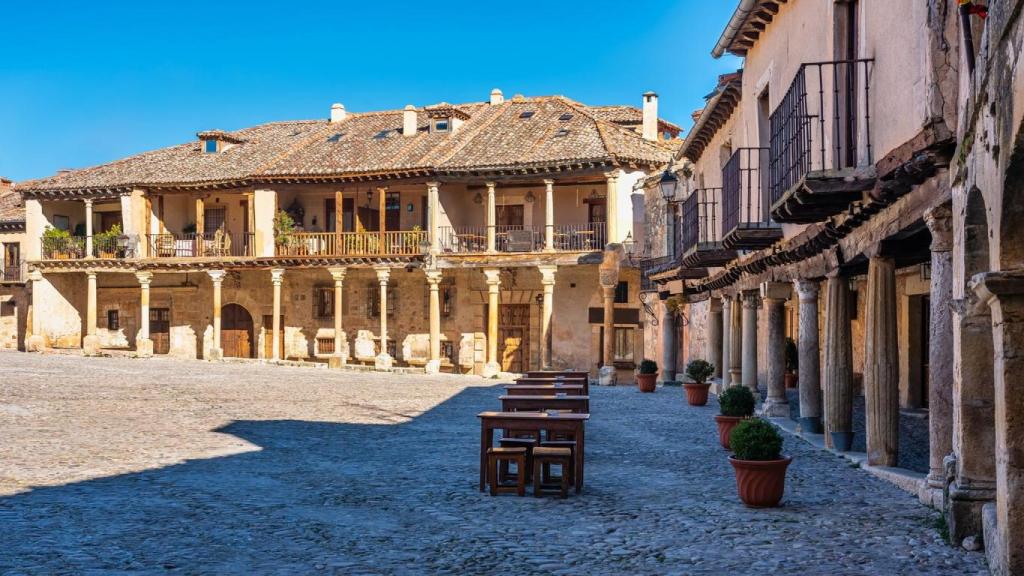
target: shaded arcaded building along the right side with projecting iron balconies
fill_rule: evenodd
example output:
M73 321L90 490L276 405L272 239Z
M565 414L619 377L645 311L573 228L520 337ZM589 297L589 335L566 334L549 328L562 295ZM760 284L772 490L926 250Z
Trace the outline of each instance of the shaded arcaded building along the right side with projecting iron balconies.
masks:
M678 152L678 257L647 277L702 331L680 365L860 445L951 542L1024 574L1024 2L982 4L739 2L713 55L742 70Z

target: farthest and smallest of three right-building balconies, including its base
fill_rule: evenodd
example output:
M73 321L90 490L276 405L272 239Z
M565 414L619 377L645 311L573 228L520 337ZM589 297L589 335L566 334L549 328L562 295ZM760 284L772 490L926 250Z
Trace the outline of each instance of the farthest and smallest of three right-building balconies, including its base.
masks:
M720 266L736 257L722 245L722 189L693 191L683 201L681 263L687 269Z

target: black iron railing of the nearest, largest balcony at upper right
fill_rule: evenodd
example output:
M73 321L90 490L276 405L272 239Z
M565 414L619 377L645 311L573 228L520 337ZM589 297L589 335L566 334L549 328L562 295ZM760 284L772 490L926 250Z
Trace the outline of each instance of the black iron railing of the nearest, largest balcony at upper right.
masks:
M770 203L808 172L871 163L870 58L800 67L769 118Z

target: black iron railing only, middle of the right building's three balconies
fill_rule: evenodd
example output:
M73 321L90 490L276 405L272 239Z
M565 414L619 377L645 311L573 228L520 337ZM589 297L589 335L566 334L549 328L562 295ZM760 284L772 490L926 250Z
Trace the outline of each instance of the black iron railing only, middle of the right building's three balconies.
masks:
M771 225L767 195L768 149L737 149L722 169L722 237L737 228Z

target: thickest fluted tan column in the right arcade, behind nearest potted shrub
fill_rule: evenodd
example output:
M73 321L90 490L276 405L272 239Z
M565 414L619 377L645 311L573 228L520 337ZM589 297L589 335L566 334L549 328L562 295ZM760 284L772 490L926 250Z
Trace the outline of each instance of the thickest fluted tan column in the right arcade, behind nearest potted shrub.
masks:
M873 256L867 265L864 321L864 423L867 463L895 466L899 451L899 346L896 341L896 262Z

